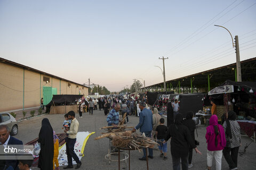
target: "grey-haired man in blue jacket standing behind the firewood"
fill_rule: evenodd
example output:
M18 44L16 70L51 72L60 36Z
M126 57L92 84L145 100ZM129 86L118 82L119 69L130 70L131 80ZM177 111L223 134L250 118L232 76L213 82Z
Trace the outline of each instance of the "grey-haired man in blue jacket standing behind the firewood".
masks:
M132 130L135 132L136 130L140 129L141 134L145 133L146 137L151 137L151 131L153 129L153 116L152 112L146 108L145 102L141 101L139 103L140 112L140 121L139 124ZM149 151L149 158L153 159L153 149L148 148ZM143 157L139 158L140 160L147 160L146 159L146 149L143 148Z

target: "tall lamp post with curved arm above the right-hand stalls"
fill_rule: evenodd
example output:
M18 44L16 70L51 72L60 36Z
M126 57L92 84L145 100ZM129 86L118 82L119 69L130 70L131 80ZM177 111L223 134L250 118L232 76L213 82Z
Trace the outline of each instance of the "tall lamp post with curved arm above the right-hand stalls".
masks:
M217 26L217 27L222 27L220 25L214 25L214 26ZM226 29L228 32L229 30L225 27L222 27L224 29ZM240 53L239 53L239 44L238 44L238 36L235 36L235 43L233 41L233 37L231 35L231 33L229 32L230 36L231 36L231 39L232 39L232 45L233 45L233 48L235 47L235 50L236 50L236 79L238 82L241 82L242 81L242 73L241 73L241 63L240 63Z

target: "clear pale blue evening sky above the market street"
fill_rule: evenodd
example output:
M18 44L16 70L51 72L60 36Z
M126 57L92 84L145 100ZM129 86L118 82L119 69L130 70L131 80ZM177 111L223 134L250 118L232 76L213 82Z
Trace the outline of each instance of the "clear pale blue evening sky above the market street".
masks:
M256 57L256 1L0 1L0 57L77 83L146 87ZM159 66L159 67L156 67ZM127 85L127 86L126 86Z

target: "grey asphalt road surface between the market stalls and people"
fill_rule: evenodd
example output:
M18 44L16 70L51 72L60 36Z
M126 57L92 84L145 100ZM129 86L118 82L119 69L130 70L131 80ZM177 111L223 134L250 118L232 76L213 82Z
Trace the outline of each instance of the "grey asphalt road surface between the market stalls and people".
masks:
M20 122L19 132L15 138L22 140L23 143L27 143L37 138L41 128L42 119L45 117L49 118L52 128L56 133L63 132L61 129L62 123L64 121L63 114L43 115L41 117L36 117L31 120ZM104 130L99 130L102 126L107 125L106 116L104 115L103 111L94 111L93 115L89 115L89 113L83 113L83 118L79 118L79 115L76 114L76 117L79 121L79 131L95 132L95 134L91 135L86 143L84 150L85 156L81 160L82 166L80 169L118 169L118 162L111 162L109 164L109 161L105 159L105 155L108 154L109 140L107 138L96 141L94 140L95 137L101 135L101 132L105 132ZM126 123L126 125L135 126L138 124L139 118L135 116L129 116L129 121L130 122ZM138 130L137 133L139 133ZM191 169L206 169L207 146L205 133L206 127L200 126L198 128L200 142L198 149L202 152L202 155L198 155L193 152L194 155L192 164L194 166ZM242 147L239 148L239 152L242 152L242 154L238 156L238 169L250 170L255 169L256 167L256 143L251 143L251 145L246 149L246 152L243 152L246 143L250 143L250 141L251 140L248 137L242 137ZM172 169L170 140L168 141L167 150L167 160L163 160L163 158L159 157L159 151L153 151L154 158L149 159L149 169ZM142 155L142 151L131 151L131 169L147 169L146 161L139 160ZM111 158L117 160L118 157L111 156ZM121 169L129 169L128 165L128 162L127 164L125 164L125 162L121 162ZM60 169L63 169L63 166L60 167ZM215 161L213 161L212 169L215 169ZM224 157L222 157L222 169L228 169L228 164L226 163Z

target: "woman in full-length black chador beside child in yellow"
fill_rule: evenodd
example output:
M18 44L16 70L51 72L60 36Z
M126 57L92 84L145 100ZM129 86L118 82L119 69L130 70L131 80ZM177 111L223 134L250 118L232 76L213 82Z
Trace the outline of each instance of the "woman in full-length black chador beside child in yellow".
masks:
M53 130L48 118L42 120L38 142L41 150L38 160L38 168L41 170L53 169Z

